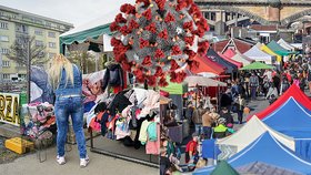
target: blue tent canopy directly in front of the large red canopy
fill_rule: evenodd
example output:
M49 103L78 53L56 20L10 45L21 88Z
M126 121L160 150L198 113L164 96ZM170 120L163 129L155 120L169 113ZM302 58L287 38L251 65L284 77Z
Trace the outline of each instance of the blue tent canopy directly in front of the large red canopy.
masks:
M293 97L262 119L262 122L294 138L311 138L311 111L301 106Z

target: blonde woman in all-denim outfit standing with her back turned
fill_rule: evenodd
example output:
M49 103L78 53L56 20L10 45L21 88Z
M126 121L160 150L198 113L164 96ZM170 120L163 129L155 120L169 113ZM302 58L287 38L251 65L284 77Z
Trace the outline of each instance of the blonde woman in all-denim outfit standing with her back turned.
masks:
M69 126L69 116L78 143L80 167L89 163L83 132L83 102L82 102L82 75L77 65L66 56L56 55L48 64L49 81L56 94L54 112L57 117L57 162L66 164L64 144Z

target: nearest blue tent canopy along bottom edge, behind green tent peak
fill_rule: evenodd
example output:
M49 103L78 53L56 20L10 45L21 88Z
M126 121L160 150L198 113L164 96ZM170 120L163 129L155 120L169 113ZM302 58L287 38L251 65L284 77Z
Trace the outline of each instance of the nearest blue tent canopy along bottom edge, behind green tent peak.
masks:
M269 132L263 133L252 144L227 162L237 168L257 161L301 174L311 174L311 163L295 156ZM215 166L199 168L193 175L208 175L214 168Z

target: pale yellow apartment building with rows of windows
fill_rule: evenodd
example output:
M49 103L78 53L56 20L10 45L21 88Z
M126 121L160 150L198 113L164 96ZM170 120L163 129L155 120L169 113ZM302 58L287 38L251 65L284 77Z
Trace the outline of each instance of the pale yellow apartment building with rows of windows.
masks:
M26 78L26 66L6 56L10 52L10 47L20 37L36 37L36 45L46 45L46 56L52 58L59 53L59 35L72 28L73 24L68 22L0 6L0 72L2 72L2 80L12 81Z

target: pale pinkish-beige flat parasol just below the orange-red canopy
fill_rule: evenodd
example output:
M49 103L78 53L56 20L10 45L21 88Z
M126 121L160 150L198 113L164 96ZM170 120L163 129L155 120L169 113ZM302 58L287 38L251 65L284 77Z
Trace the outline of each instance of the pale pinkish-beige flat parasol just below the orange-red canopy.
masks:
M187 76L184 82L187 82L189 86L227 86L223 82L199 75Z

